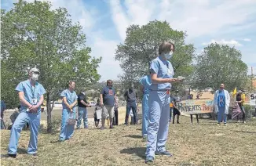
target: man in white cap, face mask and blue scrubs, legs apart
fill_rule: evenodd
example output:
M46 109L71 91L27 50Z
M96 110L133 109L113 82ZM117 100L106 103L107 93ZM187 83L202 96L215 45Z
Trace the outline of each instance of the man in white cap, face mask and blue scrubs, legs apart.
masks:
M43 94L46 93L45 88L37 82L38 76L39 70L37 68L32 68L29 70L29 79L27 81L20 82L15 89L19 94L20 114L16 118L11 129L8 157L16 158L20 132L27 123L29 124L31 132L27 153L34 157L37 156L41 105L43 102Z

